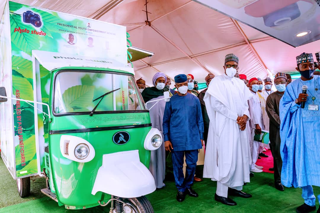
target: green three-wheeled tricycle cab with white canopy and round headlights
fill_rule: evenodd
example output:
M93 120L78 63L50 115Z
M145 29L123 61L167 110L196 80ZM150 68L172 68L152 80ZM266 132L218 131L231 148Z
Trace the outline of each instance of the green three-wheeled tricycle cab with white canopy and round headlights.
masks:
M144 195L156 189L148 166L162 133L151 128L133 68L54 52L33 50L32 56L34 100L17 98L18 91L6 95L2 87L0 102L35 106L37 176L47 186L41 191L67 209L111 202L110 212L153 212ZM51 77L41 78L44 72ZM27 196L30 177L18 178L17 185L20 196Z

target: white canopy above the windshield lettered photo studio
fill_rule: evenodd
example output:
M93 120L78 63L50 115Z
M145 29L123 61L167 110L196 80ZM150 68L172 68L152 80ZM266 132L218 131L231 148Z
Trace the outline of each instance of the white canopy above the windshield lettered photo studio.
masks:
M32 55L49 71L61 67L96 67L126 71L134 75L132 67L108 58L79 56L40 50L32 50Z

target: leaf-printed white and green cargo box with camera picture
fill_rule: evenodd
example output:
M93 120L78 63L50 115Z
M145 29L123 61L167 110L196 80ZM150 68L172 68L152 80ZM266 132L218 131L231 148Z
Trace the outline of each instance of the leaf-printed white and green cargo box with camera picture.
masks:
M0 87L5 87L8 96L37 100L32 50L56 52L57 57L109 58L127 64L126 27L13 1L8 1L0 14ZM41 66L40 78L41 88L37 90L41 91L41 100L37 101L48 103L50 72ZM48 111L45 106L37 107ZM0 103L1 156L14 179L41 175L42 150L48 143L47 122L42 112L26 102L8 99Z

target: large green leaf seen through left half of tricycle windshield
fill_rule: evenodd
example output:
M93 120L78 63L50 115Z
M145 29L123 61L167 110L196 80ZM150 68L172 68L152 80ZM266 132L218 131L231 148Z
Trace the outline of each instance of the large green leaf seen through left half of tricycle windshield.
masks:
M92 103L94 86L77 85L68 88L63 94L63 102L69 112L88 111Z

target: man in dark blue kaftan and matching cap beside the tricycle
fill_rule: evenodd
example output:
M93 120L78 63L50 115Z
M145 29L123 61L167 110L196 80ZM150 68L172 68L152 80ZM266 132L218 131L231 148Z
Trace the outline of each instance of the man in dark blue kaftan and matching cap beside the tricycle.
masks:
M203 146L203 119L199 99L188 93L185 74L174 77L178 94L165 104L163 116L164 147L172 153L174 180L178 189L177 201L186 194L198 197L191 188L198 161L198 149ZM186 175L183 175L183 158L186 156Z

